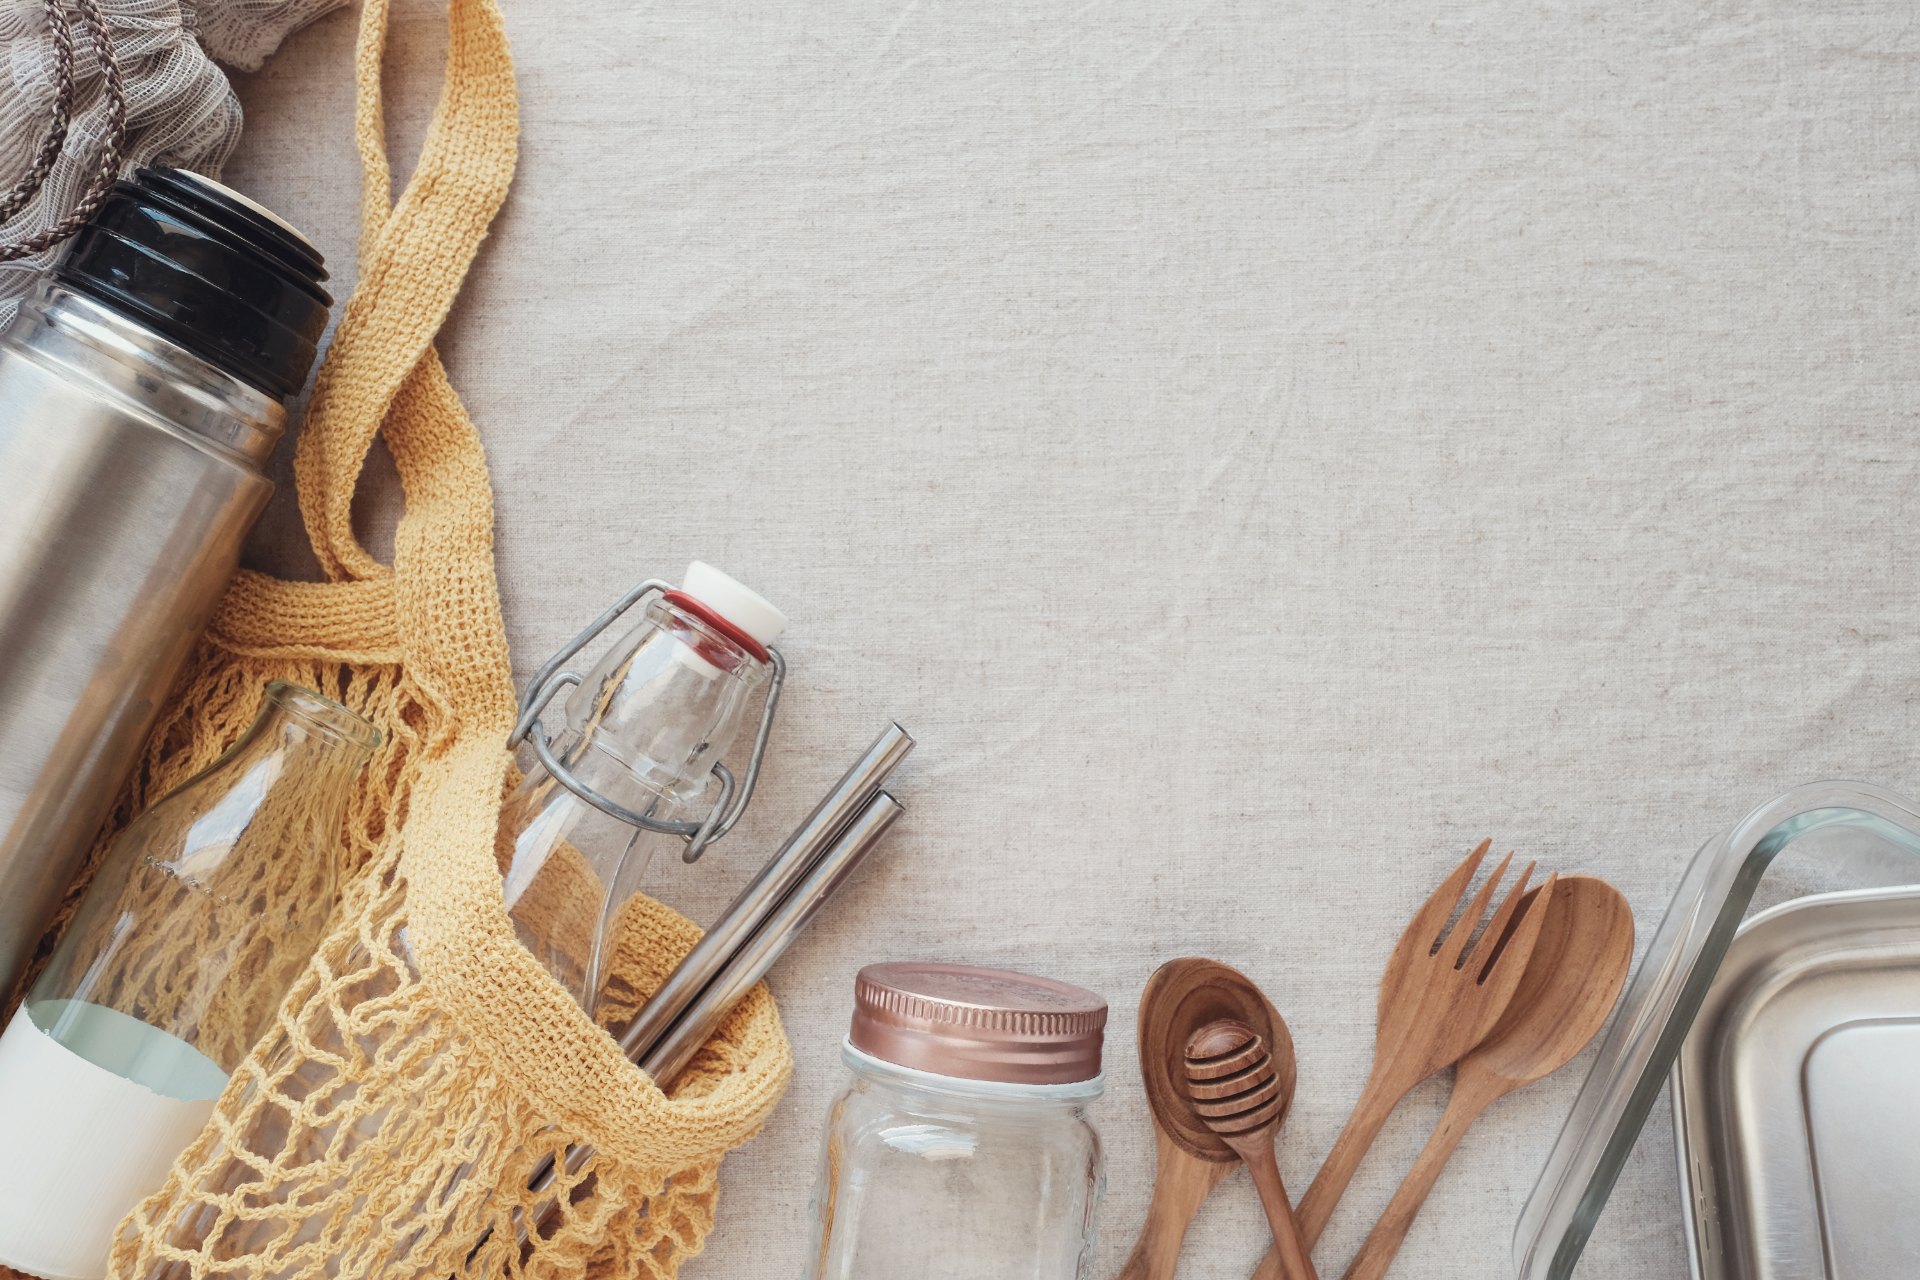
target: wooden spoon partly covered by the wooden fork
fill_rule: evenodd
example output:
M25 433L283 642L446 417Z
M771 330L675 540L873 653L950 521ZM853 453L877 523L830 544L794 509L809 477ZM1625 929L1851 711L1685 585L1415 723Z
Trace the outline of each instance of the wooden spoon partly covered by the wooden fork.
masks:
M1572 1061L1613 1011L1634 961L1634 912L1626 898L1607 881L1569 875L1553 885L1544 915L1519 992L1492 1034L1461 1059L1446 1115L1346 1268L1346 1280L1386 1274L1467 1128L1507 1094Z

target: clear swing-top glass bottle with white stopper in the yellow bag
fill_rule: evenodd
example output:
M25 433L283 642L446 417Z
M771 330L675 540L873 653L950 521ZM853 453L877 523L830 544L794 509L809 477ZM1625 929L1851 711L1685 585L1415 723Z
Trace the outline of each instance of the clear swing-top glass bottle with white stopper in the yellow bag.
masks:
M584 785L636 814L699 821L714 804L712 768L772 674L768 645L785 616L695 560L680 591L645 618L572 691L551 754ZM536 762L501 808L507 913L520 942L586 1007L632 1013L609 992L607 956L620 913L653 856L680 839L607 814Z

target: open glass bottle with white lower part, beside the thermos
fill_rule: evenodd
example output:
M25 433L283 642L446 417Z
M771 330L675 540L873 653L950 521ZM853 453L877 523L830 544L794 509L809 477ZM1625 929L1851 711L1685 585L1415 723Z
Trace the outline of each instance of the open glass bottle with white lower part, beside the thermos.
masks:
M0 1036L0 1263L106 1274L113 1228L165 1182L319 944L378 741L276 681L253 727L108 850Z

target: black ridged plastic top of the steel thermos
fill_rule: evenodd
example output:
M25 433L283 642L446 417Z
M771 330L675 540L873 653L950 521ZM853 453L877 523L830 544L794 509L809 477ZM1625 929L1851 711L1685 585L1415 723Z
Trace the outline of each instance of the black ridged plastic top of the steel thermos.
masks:
M184 169L117 182L54 276L275 399L307 380L334 303L305 236Z

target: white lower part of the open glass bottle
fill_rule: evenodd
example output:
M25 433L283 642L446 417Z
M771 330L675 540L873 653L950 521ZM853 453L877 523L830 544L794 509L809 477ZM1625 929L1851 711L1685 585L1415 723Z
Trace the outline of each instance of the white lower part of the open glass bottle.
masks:
M167 1180L173 1157L213 1115L227 1073L117 1009L61 1006L35 1013L50 1025L69 1013L77 1042L111 1046L108 1061L167 1063L169 1077L154 1080L165 1090L156 1092L108 1071L40 1031L27 1009L0 1034L0 1263L100 1280L113 1228Z

